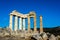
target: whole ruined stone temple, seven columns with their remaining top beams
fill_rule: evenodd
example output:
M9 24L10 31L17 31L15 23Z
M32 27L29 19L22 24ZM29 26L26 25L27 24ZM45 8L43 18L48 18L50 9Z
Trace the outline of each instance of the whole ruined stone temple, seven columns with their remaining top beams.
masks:
M35 12L30 12L29 14L21 14L19 12L17 12L16 10L14 10L12 13L10 13L10 23L9 23L9 28L11 29L11 31L13 31L12 27L12 23L13 23L13 16L15 17L14 20L14 31L18 30L18 24L19 24L19 30L25 30L25 19L28 19L28 32L31 31L30 29L30 18L34 18L34 32L37 31L36 28L36 14ZM19 18L19 23L18 23L18 18ZM43 27L42 27L42 16L40 16L40 32L43 32Z

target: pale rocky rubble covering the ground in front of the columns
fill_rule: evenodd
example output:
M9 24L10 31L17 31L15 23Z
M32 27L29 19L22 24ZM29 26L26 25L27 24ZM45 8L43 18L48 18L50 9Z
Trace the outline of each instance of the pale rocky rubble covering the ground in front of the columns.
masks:
M60 36L45 32L0 30L0 40L60 40Z

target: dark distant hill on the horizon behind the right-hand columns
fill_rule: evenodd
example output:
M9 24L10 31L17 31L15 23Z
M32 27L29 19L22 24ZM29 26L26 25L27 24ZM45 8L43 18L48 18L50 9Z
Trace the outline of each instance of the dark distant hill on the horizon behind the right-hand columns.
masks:
M33 30L33 28L31 28ZM55 36L60 35L60 26L53 27L53 28L43 28L44 32L49 32L51 34L54 34ZM37 28L38 31L40 31L40 28Z

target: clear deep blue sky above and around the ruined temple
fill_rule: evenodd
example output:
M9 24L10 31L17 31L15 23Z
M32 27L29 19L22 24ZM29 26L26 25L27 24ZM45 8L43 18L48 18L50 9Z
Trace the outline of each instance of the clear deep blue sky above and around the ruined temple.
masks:
M40 15L43 16L44 27L60 26L59 0L0 0L0 27L9 26L9 14L13 10L23 14L35 11L37 27L40 27Z

